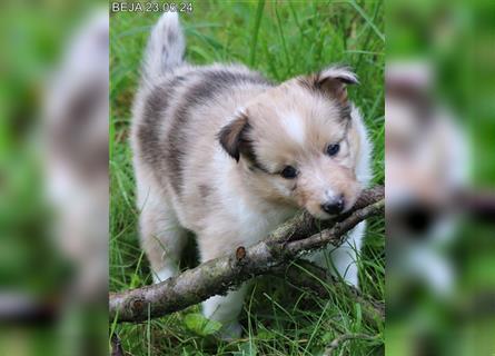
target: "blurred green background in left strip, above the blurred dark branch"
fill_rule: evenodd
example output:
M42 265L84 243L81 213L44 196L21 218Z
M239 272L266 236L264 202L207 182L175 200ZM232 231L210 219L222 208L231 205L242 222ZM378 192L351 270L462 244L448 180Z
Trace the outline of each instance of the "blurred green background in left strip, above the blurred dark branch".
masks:
M93 3L95 4L95 3ZM43 200L44 87L72 31L93 9L80 1L0 4L0 287L48 294L59 265ZM36 271L36 273L33 273Z

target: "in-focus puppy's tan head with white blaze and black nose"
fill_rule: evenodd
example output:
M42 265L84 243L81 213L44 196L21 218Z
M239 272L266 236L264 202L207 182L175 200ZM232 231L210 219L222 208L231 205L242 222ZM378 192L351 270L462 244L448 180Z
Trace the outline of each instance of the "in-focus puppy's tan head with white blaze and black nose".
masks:
M354 205L359 132L346 87L356 82L336 67L291 79L246 103L221 129L220 144L254 194L320 219Z

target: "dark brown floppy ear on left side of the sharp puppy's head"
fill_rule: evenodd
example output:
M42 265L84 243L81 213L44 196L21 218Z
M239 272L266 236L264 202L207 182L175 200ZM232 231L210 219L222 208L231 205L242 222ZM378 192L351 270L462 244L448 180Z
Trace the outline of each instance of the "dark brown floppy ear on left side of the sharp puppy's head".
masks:
M248 117L245 112L240 112L237 115L234 121L225 126L218 134L218 139L220 141L221 147L236 161L239 161L242 148L245 146L248 146L249 144L248 139L246 138L248 129L249 129Z

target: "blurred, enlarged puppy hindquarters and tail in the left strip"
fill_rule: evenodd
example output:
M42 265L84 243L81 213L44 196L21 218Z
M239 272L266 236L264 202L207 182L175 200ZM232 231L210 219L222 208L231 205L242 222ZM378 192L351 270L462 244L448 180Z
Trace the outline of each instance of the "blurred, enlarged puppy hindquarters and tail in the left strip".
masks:
M75 265L70 303L108 289L108 38L99 10L71 38L43 102L46 195L57 247Z

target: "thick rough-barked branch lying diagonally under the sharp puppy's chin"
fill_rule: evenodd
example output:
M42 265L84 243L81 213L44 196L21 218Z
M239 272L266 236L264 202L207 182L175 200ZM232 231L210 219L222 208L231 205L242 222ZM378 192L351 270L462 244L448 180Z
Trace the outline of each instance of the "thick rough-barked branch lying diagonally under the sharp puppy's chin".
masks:
M350 211L333 220L320 221L301 212L249 248L239 246L230 256L209 260L157 285L112 293L110 318L136 323L178 312L214 295L226 294L301 254L330 243L338 246L357 224L384 212L384 187L367 189Z

